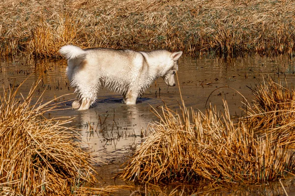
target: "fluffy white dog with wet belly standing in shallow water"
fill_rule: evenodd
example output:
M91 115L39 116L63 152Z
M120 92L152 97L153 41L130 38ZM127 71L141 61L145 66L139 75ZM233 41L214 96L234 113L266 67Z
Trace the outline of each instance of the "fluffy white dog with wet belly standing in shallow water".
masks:
M81 49L73 45L61 47L59 52L68 59L66 74L78 94L72 107L79 110L90 107L102 86L120 93L128 105L135 104L136 98L158 77L163 77L168 86L175 86L177 60L182 55L182 51Z

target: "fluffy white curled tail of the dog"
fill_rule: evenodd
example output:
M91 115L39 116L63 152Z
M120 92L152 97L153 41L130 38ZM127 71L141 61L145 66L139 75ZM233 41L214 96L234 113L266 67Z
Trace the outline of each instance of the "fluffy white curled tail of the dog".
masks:
M73 45L67 45L63 46L59 49L59 53L66 59L72 60L72 59L84 59L87 52L81 49L80 47L73 46Z

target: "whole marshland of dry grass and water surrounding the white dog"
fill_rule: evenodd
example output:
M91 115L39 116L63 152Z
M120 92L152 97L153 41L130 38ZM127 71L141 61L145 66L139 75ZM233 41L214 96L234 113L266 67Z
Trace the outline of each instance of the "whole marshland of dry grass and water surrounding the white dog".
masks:
M0 3L0 191L292 195L291 0ZM135 106L102 89L71 109L66 44L183 50Z

